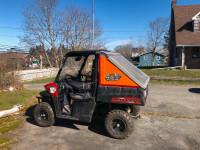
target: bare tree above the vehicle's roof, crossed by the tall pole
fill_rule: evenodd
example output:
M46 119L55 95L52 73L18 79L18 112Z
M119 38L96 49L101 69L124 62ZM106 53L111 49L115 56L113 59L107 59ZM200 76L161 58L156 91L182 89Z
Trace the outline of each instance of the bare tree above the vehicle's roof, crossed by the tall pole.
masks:
M66 7L63 12L63 37L70 50L99 49L104 46L100 38L102 29L99 20L95 20L95 38L92 43L91 13L84 8Z

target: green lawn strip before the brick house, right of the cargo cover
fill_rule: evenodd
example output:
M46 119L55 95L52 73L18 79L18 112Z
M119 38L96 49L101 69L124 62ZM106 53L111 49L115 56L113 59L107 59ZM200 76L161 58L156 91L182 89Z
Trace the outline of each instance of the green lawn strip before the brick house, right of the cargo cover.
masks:
M200 78L200 70L150 70L141 69L148 76L177 77L177 78Z

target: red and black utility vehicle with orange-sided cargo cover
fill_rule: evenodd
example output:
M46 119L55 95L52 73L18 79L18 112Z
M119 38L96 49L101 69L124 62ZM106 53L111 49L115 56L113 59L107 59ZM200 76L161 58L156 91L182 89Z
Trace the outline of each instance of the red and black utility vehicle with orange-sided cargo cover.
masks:
M105 129L116 139L133 131L133 117L144 106L150 78L119 53L107 50L68 52L53 83L40 92L34 118L38 125L52 126L55 118L91 122L105 117ZM71 90L65 90L65 84ZM65 96L71 114L63 114Z

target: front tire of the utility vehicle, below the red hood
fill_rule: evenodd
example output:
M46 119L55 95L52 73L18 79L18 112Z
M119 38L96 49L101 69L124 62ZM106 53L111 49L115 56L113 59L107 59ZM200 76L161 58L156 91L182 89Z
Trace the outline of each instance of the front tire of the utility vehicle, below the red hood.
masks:
M34 119L41 127L49 127L55 123L54 112L49 103L41 102L34 109Z

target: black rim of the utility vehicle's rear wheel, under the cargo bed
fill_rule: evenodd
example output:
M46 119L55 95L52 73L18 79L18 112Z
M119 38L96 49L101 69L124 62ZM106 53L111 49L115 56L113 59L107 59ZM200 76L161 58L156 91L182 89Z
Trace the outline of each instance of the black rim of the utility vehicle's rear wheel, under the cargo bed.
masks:
M114 133L123 133L126 131L126 124L122 119L115 118L111 121L111 129Z

